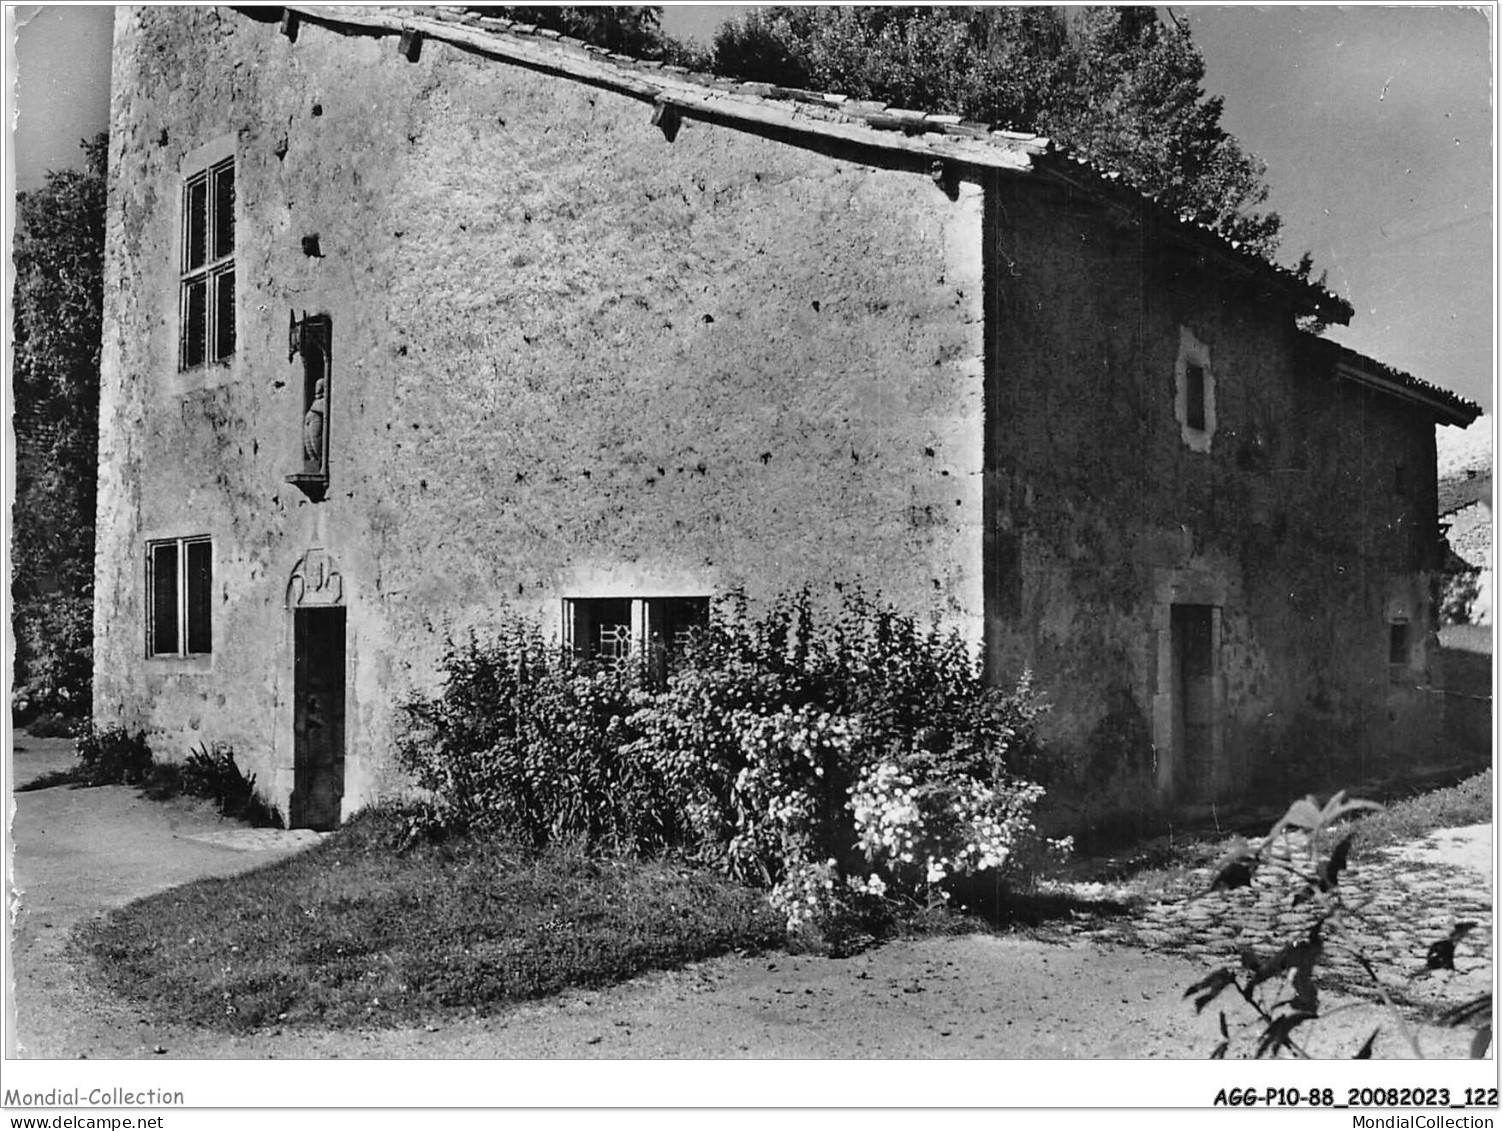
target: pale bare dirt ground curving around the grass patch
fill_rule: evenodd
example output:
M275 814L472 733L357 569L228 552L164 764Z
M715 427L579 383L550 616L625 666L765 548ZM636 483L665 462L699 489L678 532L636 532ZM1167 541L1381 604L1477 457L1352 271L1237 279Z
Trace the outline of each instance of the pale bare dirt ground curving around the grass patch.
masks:
M12 781L71 761L66 741L18 741ZM1054 941L983 934L906 940L846 960L732 955L419 1029L230 1036L153 1027L128 1003L87 987L68 951L72 929L165 887L265 866L298 851L308 835L242 838L201 806L146 802L123 787L39 790L14 802L6 999L15 1012L6 1056L1204 1059L1217 1039L1214 1012L1196 1017L1183 1000L1208 966L1063 932ZM1238 1015L1228 1012L1237 1024ZM1380 1024L1374 1054L1408 1056L1383 1011L1366 1005L1323 1020L1308 1047L1350 1057ZM1465 1056L1468 1038L1435 1027L1419 1033L1428 1057Z

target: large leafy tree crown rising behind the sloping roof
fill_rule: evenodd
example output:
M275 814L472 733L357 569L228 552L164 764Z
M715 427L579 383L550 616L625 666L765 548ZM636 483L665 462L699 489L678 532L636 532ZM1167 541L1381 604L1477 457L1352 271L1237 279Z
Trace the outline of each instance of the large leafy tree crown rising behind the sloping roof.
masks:
M1045 134L1228 238L1278 244L1263 162L1153 8L756 8L715 35L714 66Z

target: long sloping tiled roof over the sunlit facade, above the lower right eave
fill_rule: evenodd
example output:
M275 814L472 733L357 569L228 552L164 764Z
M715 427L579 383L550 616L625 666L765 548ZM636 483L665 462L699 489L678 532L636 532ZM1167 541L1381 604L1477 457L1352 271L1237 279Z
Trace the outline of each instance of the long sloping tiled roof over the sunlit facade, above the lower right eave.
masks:
M1039 134L998 129L954 114L929 114L839 93L741 83L691 72L657 60L612 53L550 29L479 17L458 8L292 5L286 11L331 26L353 26L391 35L421 32L496 59L672 105L691 117L752 128L777 126L930 161L947 159L1015 173L1039 171L1072 183L1084 182L1108 199L1157 211L1166 230L1261 274L1272 286L1293 295L1302 310L1327 322L1345 323L1351 319L1351 305L1339 295L1234 239L1226 239L1208 224L1175 212L1133 186L1121 173L1102 168Z

